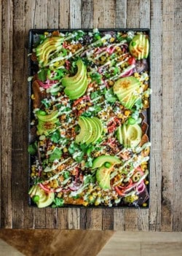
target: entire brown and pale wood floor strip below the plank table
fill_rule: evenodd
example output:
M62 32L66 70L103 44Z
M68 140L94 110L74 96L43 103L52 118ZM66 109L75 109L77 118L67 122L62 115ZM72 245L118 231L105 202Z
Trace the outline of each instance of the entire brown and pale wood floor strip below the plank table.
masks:
M3 229L0 252L1 256L181 256L182 232Z

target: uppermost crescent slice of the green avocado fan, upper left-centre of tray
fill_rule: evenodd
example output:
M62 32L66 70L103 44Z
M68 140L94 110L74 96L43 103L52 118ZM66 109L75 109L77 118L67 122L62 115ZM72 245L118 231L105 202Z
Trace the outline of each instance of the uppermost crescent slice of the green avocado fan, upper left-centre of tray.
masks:
M63 86L69 86L71 84L75 84L79 82L82 77L84 77L85 74L87 74L87 69L84 66L84 63L82 60L76 61L76 66L77 66L77 72L73 77L63 77L61 80Z

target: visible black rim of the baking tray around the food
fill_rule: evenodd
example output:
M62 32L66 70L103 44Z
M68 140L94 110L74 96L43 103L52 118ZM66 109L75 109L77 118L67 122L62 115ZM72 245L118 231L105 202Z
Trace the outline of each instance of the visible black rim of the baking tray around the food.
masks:
M92 28L90 29L85 29L85 28L76 28L76 29L60 29L60 28L52 28L52 29L30 29L28 33L28 77L32 77L36 71L37 71L37 65L31 61L31 53L33 50L33 44L35 44L37 40L37 36L40 34L44 34L44 32L52 33L53 31L60 31L62 33L66 32L73 32L73 31L85 31L85 32L90 32L92 31ZM151 31L149 28L99 28L98 29L100 32L109 32L109 31L122 31L122 32L128 32L128 31L138 31L138 32L145 32L149 36L149 56L147 58L147 62L149 65L149 88L151 88ZM31 100L31 95L32 95L32 88L31 88L32 82L28 82L28 145L31 144L31 119L33 117L33 112L32 112L32 100ZM149 97L149 108L146 109L145 113L145 119L146 123L148 123L149 128L147 130L147 135L149 136L149 141L151 141L151 96ZM150 160L149 160L149 184L150 184L150 175L151 175L151 150L149 154ZM33 161L33 158L31 155L28 155L28 187L31 187L31 163ZM150 206L150 186L146 185L147 188L147 193L149 193L149 198L147 199L146 203L147 206L79 206L79 205L69 205L66 204L63 206L63 208L92 208L92 209L149 209ZM145 192L144 192L145 193ZM29 206L36 206L35 203L31 200L31 198L28 198L28 205ZM48 206L49 207L49 206Z

